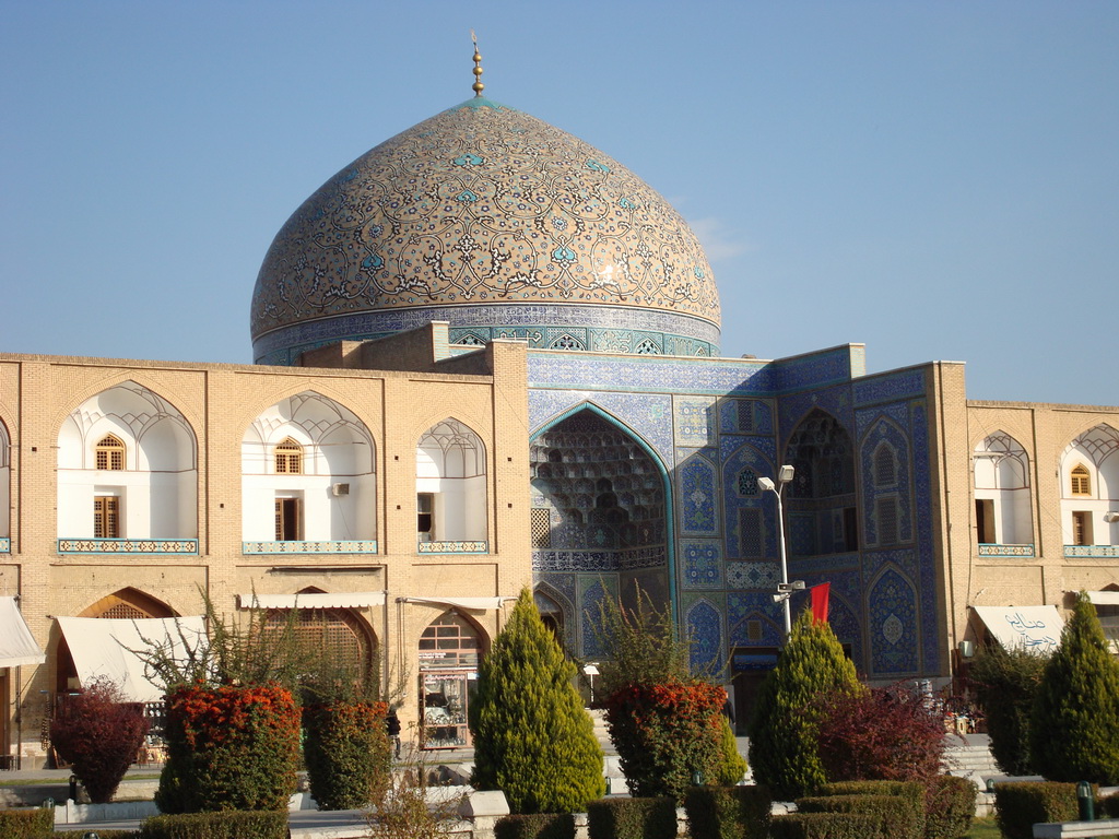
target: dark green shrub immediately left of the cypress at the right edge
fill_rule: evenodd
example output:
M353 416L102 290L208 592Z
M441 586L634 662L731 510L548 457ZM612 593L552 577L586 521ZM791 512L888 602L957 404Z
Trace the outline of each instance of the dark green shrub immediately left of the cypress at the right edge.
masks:
M1008 775L1033 774L1029 762L1029 719L1042 684L1047 654L1002 644L980 647L968 679L987 717L990 752Z

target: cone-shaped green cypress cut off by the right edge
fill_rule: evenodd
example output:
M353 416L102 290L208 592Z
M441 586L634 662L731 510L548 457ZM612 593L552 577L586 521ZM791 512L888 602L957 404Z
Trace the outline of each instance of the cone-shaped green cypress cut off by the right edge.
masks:
M1083 592L1045 666L1029 752L1051 781L1119 783L1119 663Z

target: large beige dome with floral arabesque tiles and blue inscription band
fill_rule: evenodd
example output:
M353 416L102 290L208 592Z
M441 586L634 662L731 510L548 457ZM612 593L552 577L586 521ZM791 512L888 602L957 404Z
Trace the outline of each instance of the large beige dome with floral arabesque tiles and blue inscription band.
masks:
M695 235L612 158L476 97L397 134L295 210L256 280L256 360L431 320L453 343L714 355Z

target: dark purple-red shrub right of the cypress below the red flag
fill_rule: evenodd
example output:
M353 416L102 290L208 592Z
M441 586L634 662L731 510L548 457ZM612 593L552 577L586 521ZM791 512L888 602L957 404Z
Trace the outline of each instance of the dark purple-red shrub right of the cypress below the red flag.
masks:
M903 685L820 700L819 755L829 781L920 781L943 771L944 726Z

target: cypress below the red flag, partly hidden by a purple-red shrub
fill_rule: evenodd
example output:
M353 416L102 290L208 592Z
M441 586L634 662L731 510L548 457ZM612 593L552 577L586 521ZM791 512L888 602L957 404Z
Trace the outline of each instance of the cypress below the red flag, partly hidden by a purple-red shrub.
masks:
M758 783L768 784L782 801L825 783L816 745L817 700L836 690L861 689L831 626L812 622L808 610L801 612L750 719L750 765Z

